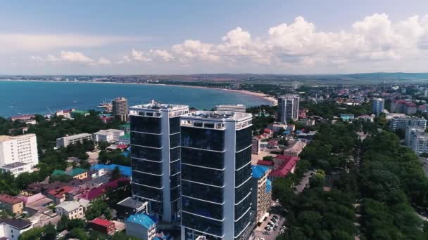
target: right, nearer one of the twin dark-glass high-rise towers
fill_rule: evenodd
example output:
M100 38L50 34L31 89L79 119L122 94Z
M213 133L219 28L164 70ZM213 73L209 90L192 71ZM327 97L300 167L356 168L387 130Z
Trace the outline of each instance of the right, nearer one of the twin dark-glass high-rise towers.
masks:
M241 112L196 111L181 119L181 239L248 239L251 119Z

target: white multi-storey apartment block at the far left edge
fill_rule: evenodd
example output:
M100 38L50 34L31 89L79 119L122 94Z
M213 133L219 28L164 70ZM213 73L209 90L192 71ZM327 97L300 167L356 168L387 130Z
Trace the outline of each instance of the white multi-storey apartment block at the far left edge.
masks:
M35 134L0 135L0 166L21 162L31 167L39 164Z

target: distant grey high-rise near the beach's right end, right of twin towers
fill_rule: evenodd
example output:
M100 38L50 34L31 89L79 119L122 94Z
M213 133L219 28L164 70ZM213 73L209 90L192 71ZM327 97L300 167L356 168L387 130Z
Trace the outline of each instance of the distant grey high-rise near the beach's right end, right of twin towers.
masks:
M287 94L278 97L277 121L298 121L298 106L300 97L297 94Z

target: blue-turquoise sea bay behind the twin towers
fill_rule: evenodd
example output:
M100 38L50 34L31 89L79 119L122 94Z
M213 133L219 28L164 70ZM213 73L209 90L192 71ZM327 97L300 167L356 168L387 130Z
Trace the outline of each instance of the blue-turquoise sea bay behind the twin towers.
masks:
M145 84L93 84L78 82L0 81L0 116L49 114L61 109L97 109L101 102L125 97L129 105L151 100L212 109L215 105L270 105L257 96L210 88ZM102 111L102 109L99 109Z

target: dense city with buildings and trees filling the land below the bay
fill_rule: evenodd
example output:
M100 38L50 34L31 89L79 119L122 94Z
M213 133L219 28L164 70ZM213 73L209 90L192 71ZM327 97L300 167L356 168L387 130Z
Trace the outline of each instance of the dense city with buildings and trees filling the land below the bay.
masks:
M0 239L428 239L427 84L213 87L0 118Z

